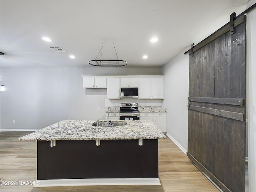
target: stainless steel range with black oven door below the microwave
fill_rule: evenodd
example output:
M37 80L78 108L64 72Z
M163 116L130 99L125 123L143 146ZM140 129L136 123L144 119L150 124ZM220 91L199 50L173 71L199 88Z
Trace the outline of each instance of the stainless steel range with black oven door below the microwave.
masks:
M137 120L140 119L138 103L120 103L120 119Z

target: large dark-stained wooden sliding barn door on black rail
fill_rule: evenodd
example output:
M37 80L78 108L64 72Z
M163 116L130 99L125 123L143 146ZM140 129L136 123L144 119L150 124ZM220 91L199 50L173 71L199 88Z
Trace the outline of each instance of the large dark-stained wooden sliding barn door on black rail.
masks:
M187 155L229 192L245 188L245 20L190 50Z

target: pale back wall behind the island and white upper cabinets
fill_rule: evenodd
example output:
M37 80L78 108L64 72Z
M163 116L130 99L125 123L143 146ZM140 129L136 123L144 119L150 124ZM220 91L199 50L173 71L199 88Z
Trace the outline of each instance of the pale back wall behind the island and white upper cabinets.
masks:
M82 75L161 75L161 68L4 68L1 130L35 130L68 119L104 119L107 91L82 88Z

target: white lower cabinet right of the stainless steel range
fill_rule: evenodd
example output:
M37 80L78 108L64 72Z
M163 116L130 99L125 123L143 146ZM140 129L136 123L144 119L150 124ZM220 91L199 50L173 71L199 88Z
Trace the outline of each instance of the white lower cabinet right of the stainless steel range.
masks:
M152 122L162 132L167 132L167 113L166 112L140 112L141 120L152 120Z

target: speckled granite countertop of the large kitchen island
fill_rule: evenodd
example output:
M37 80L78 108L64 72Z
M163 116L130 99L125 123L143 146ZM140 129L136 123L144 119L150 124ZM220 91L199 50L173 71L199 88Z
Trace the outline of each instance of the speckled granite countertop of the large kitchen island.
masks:
M95 120L64 120L19 138L19 140L133 140L166 136L151 120L125 120L125 126L92 126Z

